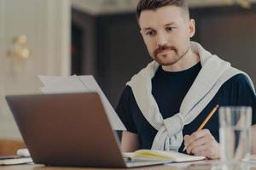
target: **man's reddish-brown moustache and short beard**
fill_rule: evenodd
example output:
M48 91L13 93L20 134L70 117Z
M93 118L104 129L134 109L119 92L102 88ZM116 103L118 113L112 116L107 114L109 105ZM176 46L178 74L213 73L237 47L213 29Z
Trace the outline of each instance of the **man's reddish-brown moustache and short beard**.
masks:
M182 54L179 54L178 49L175 46L160 46L154 50L154 60L160 65L173 65L182 59L185 54L188 54L189 49L190 46ZM165 50L167 52L166 54L160 54Z

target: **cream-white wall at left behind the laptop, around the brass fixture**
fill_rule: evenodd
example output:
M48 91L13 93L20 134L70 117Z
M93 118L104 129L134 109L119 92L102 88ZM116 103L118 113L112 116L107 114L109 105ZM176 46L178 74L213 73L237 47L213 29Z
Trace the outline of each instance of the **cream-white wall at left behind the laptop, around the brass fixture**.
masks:
M0 0L0 139L20 139L4 95L40 93L39 74L70 74L70 18L69 0ZM32 55L10 58L23 34Z

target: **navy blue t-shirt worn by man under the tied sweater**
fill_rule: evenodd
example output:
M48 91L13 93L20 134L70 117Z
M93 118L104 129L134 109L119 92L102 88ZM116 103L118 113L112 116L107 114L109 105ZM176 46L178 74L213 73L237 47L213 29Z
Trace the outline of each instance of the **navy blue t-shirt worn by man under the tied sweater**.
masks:
M175 115L183 98L201 71L201 63L185 71L164 71L160 66L152 79L152 94L164 119ZM194 133L206 119L215 105L247 105L253 107L253 124L256 123L256 97L248 79L243 74L231 77L224 82L218 93L203 111L183 127L183 135ZM157 130L152 127L138 108L131 87L126 86L116 108L127 131L137 133L140 149L151 149ZM213 114L206 126L214 138L218 139L218 111ZM183 144L179 151L183 150Z

